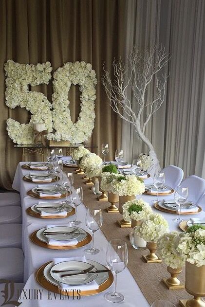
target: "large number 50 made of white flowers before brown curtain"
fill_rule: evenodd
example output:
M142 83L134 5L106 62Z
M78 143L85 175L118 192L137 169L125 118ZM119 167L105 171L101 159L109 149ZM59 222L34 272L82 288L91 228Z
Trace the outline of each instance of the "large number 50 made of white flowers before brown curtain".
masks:
M49 83L52 71L50 62L28 65L8 60L4 68L7 87L6 105L9 108L20 106L32 113L29 124L19 124L11 118L7 120L8 135L14 143L32 144L34 123L45 124L50 132L47 135L49 140L82 143L91 137L95 119L94 100L97 84L91 64L83 61L68 62L57 69L53 81L53 105L43 93L28 90L29 84L36 86ZM81 109L76 123L72 122L69 109L68 92L71 84L79 84L81 91Z

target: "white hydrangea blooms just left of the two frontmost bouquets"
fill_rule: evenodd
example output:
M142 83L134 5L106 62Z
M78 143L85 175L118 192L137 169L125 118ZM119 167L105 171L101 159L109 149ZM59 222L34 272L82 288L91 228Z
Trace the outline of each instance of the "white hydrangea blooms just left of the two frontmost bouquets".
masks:
M136 226L135 234L146 242L157 243L158 239L168 232L168 221L161 214L151 214L149 219L142 220L140 226Z

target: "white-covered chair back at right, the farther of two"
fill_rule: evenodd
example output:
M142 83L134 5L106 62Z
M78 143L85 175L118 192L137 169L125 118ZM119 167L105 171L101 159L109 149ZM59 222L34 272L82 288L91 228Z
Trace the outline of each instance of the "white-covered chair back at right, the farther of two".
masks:
M165 184L172 189L175 189L182 182L184 177L183 170L175 165L169 165L163 168L161 172L165 173Z

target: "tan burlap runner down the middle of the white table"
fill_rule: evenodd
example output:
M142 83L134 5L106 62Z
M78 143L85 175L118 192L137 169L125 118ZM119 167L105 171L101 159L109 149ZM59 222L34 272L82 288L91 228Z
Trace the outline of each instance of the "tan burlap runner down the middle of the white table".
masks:
M75 187L82 186L84 194L84 203L88 208L101 208L103 213L103 225L101 227L102 232L106 236L107 240L111 239L123 239L127 242L129 252L128 269L130 270L133 278L141 289L142 293L146 297L149 304L152 304L155 300L168 300L179 306L179 299L187 299L191 296L183 290L168 290L161 282L162 278L168 278L170 275L167 271L167 266L164 263L147 264L142 260L142 255L147 254L148 250L135 250L129 239L130 228L120 228L117 224L117 219L122 219L119 213L107 213L105 210L110 206L107 201L99 201L93 194L89 185L86 185L82 178L82 175L76 175L74 172L74 185ZM98 255L96 255L98 257ZM100 259L96 258L96 261ZM185 268L179 275L179 279L182 283L185 283ZM125 280L126 283L126 280ZM138 305L136 305L138 306ZM139 306L142 307L142 306Z

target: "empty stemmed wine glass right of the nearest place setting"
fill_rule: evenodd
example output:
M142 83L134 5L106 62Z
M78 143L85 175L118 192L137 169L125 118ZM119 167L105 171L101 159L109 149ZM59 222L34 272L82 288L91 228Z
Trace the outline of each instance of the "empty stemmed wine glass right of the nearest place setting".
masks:
M107 253L107 265L113 272L115 278L114 292L105 294L105 299L112 303L119 303L124 300L124 296L116 292L117 288L117 274L122 272L128 264L128 247L126 242L120 239L114 239L109 242Z

